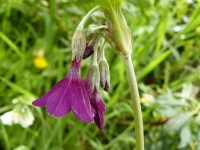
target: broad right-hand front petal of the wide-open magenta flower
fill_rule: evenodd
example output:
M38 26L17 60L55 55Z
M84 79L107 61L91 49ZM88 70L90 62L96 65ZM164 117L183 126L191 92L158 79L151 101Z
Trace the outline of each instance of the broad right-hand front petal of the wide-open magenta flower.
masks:
M94 109L91 107L87 91L81 80L73 81L74 98L71 109L74 115L81 121L90 123L94 121Z

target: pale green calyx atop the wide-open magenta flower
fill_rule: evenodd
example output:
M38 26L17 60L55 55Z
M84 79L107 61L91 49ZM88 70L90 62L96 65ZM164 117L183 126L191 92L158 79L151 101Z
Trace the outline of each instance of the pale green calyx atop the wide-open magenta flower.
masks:
M81 60L85 52L86 36L83 27L78 27L72 38L72 60Z

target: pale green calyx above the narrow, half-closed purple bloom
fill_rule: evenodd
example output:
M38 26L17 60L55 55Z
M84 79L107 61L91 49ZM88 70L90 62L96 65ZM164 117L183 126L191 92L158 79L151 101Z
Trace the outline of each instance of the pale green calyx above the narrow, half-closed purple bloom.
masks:
M93 65L90 67L88 71L88 77L90 80L91 93L93 93L94 89L97 90L99 89L99 84L100 84L100 74L97 65Z

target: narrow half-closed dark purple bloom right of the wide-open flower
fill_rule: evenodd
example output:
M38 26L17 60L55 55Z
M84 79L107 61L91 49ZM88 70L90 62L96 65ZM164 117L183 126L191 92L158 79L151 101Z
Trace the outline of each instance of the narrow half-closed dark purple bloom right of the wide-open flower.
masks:
M105 113L105 103L101 99L100 94L95 90L90 97L91 105L95 109L94 121L98 128L102 131L104 129L104 113Z

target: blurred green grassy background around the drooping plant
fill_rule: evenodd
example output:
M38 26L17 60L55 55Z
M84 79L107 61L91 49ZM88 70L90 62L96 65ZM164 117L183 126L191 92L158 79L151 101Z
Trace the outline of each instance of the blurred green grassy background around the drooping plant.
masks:
M57 119L31 105L67 74L73 32L96 5L95 0L0 0L1 150L135 149L125 70L110 47L111 89L101 91L103 132L72 113ZM132 33L146 150L200 150L200 1L125 0L122 9ZM83 61L83 76L88 66ZM15 112L14 118L5 117L8 112Z

